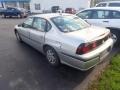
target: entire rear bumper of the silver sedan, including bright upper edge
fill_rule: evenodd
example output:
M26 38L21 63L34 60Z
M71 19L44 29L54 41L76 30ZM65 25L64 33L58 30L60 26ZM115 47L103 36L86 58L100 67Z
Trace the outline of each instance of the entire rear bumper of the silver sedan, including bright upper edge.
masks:
M82 71L89 70L98 63L102 62L110 54L113 44L114 40L111 39L106 42L105 45L102 45L97 50L84 55L82 58L61 53L61 63L80 69Z

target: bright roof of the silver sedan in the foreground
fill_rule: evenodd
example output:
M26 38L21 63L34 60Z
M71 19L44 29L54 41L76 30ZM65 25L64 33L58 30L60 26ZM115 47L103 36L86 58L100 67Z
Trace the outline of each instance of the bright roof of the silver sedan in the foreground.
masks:
M37 14L37 15L32 15L30 17L41 17L45 19L50 19L53 17L58 17L58 16L70 16L72 14L66 14L66 13L49 13L49 14Z

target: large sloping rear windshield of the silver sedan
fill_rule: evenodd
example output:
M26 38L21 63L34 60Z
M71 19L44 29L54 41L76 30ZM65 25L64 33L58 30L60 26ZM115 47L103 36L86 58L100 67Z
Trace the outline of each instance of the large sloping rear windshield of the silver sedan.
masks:
M76 16L58 16L51 20L62 32L73 32L90 26L84 20Z

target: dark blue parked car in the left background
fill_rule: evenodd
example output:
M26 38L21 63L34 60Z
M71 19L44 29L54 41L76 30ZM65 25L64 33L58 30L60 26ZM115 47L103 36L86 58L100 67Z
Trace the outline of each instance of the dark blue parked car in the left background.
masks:
M28 13L23 8L13 8L13 7L7 7L3 12L2 16L6 18L17 16L19 18L27 17Z

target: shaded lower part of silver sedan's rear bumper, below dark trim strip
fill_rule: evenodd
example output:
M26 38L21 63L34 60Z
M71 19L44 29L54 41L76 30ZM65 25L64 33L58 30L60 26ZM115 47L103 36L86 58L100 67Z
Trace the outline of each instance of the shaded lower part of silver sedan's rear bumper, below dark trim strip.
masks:
M88 61L81 61L79 59L67 56L67 55L63 55L64 60L62 61L63 64L66 64L68 66L74 67L76 69L80 69L82 71L87 71L90 68L96 66L98 63L102 62L104 60L104 58L106 58L109 55L110 52L104 54L103 56L97 56L94 57ZM67 59L66 59L67 58Z

